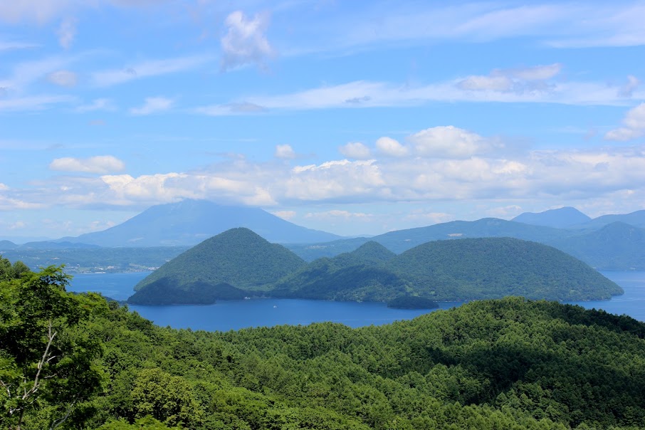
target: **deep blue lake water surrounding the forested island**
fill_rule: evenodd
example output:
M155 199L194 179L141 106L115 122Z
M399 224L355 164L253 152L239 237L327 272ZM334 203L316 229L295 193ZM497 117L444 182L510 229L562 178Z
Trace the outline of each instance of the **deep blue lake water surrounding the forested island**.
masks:
M83 273L75 275L68 290L96 291L116 300L132 295L132 287L150 272ZM603 271L620 285L624 295L612 300L573 302L584 308L604 309L645 321L645 271ZM440 309L453 308L461 302L440 303ZM382 325L410 320L432 310L390 309L384 303L330 302L298 299L221 300L213 305L128 305L155 324L192 330L227 331L245 327L273 325L308 325L323 321L350 327Z

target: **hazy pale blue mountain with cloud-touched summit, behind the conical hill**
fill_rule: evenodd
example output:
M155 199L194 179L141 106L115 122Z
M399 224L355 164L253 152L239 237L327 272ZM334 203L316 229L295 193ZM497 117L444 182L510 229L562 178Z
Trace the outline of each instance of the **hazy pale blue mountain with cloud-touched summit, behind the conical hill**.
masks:
M152 206L104 231L60 240L99 246L192 246L236 227L251 229L273 243L313 243L341 238L297 226L258 208L184 200Z

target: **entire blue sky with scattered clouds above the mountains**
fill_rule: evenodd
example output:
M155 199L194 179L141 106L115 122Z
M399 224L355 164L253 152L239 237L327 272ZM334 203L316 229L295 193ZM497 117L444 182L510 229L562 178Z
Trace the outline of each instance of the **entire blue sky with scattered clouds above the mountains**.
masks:
M0 240L645 209L645 1L0 1Z

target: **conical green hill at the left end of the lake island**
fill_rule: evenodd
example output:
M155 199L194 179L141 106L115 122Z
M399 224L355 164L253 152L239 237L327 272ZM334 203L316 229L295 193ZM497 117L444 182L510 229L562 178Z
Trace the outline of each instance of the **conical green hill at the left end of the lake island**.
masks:
M242 298L304 265L284 246L249 229L231 229L165 263L135 286L137 293L128 301L212 303L217 298Z

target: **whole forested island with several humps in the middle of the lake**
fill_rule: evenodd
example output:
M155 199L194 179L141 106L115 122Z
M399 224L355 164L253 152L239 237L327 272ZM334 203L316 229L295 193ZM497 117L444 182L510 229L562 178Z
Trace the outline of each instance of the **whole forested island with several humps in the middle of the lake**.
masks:
M248 229L182 253L135 287L134 304L213 303L249 296L321 300L473 300L523 295L607 299L622 289L550 246L515 238L431 241L399 255L374 241L309 264Z

